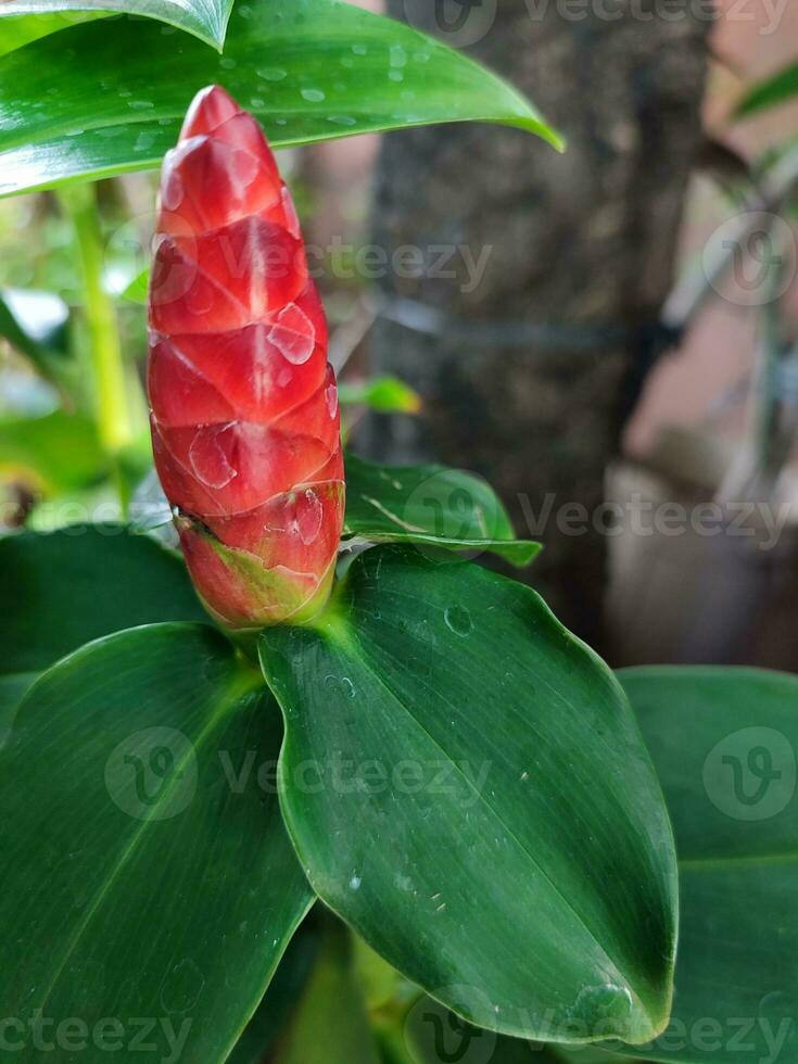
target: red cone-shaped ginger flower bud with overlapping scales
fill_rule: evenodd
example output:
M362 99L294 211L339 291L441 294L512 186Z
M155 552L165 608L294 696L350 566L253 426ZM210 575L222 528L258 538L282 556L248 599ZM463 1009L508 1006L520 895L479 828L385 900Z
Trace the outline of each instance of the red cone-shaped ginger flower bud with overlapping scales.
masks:
M233 629L312 616L344 505L327 322L266 138L218 86L164 160L150 329L155 466L205 605Z

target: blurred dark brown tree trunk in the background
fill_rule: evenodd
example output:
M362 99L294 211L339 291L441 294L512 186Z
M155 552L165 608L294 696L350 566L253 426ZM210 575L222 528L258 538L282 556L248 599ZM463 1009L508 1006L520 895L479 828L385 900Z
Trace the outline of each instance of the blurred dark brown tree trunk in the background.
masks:
M363 448L486 477L519 534L546 544L529 582L600 645L606 536L592 525L567 534L580 510L560 508L593 514L603 502L646 358L636 334L648 334L671 286L700 141L707 23L687 2L674 21L632 17L626 3L618 21L569 21L541 0L457 3L468 18L492 17L469 51L529 93L565 132L568 152L477 124L385 137L375 240L389 256L420 246L428 269L420 278L390 270L382 294L434 307L443 322L417 331L391 320L390 309L378 322L375 368L418 388L426 416L375 419ZM431 0L388 0L388 9L447 38ZM649 9L655 0L635 5ZM456 279L431 276L440 274L438 245L466 245L471 263L486 256L479 282L461 251L446 264ZM531 342L530 324L550 328ZM545 517L548 504L540 533L530 518Z

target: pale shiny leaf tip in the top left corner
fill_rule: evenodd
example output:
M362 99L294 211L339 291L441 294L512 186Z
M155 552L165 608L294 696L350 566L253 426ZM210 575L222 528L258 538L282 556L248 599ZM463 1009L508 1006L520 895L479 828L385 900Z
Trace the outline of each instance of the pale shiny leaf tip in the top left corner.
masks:
M84 12L145 15L199 37L221 51L232 0L3 0L0 18L18 15L61 15ZM0 22L0 35L2 34Z

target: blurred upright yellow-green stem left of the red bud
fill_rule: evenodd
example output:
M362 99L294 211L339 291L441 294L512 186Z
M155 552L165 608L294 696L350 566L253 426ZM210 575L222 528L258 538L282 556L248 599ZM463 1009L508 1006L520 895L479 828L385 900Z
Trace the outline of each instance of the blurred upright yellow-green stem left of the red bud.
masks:
M134 436L119 328L113 300L102 286L103 243L94 185L62 189L61 202L72 219L84 284L100 441L113 457Z

